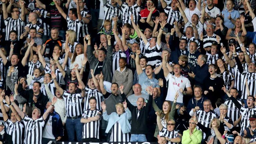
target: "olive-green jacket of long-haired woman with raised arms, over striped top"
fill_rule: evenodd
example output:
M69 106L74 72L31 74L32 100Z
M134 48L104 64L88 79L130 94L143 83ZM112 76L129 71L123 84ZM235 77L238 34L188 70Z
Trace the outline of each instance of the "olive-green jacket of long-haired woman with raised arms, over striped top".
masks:
M171 107L171 111L169 112L169 119L174 120L174 115L175 115L175 110L176 110L176 103L172 104ZM154 108L155 112L158 112L160 114L160 117L163 118L164 117L164 113L163 110L161 110L155 103L155 100L152 101L152 107ZM157 135L159 134L159 128L156 125L156 130L155 130L155 134L154 137L157 137Z

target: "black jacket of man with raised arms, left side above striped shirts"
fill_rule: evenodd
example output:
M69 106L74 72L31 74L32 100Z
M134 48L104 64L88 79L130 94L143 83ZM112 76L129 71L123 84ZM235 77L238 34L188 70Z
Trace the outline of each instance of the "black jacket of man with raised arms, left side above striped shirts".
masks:
M49 101L49 98L45 96L41 91L39 92L39 95L37 96L37 103L33 101L34 92L32 89L29 90L23 90L22 84L19 84L18 87L18 93L23 96L25 99L27 99L28 104L32 104L33 106L36 106L41 110L41 116L43 115L43 111L45 109L45 106L47 102Z

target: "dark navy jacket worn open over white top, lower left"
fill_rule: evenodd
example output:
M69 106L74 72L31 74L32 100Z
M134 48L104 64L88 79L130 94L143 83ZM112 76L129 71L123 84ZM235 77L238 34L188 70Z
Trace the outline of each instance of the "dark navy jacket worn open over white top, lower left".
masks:
M44 112L45 111L46 110L44 110ZM64 128L63 128L63 124L62 124L60 115L57 112L55 112L55 110L53 110L53 113L50 113L48 115L47 119L45 120L46 123L49 120L50 115L52 115L52 134L54 135L55 138L57 138L59 136L63 137L64 136ZM44 125L44 128L45 128L45 125Z

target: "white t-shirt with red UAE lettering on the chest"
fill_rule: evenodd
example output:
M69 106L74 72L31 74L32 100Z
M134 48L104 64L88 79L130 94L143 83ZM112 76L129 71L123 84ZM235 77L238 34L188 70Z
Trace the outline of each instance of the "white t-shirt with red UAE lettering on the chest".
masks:
M166 81L168 82L168 91L167 91L167 97L165 100L173 101L174 96L177 91L179 91L180 88L184 90L184 88L191 87L190 81L188 78L183 77L182 75L180 77L176 77L174 75L168 74L167 77L165 77ZM179 97L177 98L178 103L183 103L183 94L179 92Z

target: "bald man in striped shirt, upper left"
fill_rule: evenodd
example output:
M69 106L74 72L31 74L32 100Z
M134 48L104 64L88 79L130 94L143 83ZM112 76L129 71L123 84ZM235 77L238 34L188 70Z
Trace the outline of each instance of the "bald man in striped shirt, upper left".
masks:
M25 36L25 37L27 36L28 38L30 38L28 31L31 27L34 27L37 30L36 37L42 38L42 35L44 33L44 26L39 21L37 21L37 18L38 18L38 15L36 12L29 13L29 15L28 15L29 23L26 25L25 31L22 34L22 36Z

